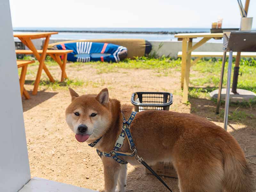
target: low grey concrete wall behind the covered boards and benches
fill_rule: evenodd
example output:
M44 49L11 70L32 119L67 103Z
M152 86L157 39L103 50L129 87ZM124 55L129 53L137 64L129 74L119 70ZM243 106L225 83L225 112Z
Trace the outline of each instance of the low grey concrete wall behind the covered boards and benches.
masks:
M68 41L71 39L50 39L50 44L55 42L61 42L61 41ZM15 41L19 41L18 39L15 39ZM36 49L42 49L44 40L43 39L35 39L33 40L34 45L36 46ZM158 56L170 56L170 57L177 57L177 54L179 51L181 51L181 41L150 41L152 44L152 51L156 52ZM195 43L193 43L195 44ZM159 45L162 45L161 48L159 48ZM28 49L28 48L27 48ZM195 51L220 51L222 52L222 43L205 43L204 45L197 48Z

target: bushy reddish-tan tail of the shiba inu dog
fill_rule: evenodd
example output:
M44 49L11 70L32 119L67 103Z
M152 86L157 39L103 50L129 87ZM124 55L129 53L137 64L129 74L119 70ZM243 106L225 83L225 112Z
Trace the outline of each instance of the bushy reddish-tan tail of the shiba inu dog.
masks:
M234 151L224 155L224 187L227 192L255 192L254 176L237 143Z

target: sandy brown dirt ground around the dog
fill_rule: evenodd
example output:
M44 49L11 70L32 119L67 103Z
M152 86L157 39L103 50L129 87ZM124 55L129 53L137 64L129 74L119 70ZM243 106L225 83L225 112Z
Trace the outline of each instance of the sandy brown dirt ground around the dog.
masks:
M30 69L37 69L31 66ZM58 66L50 68L55 79L60 79ZM193 72L192 72L193 73ZM79 78L86 84L73 87L79 94L98 93L108 87L111 98L130 104L131 95L138 91L167 91L173 93L173 104L170 110L193 113L207 118L213 123L223 126L223 118L215 115L215 103L205 98L190 98L190 104L181 103L180 71L173 69L168 76L156 75L154 70L120 69L118 73L98 74L95 68L85 65L79 69L67 66L70 79ZM44 74L43 74L44 75ZM44 75L45 76L45 75ZM25 88L31 93L33 85L29 79L35 79L35 74L26 77ZM31 94L30 94L31 95ZM31 95L30 100L22 98L24 121L27 136L28 156L31 177L41 177L64 182L83 188L104 191L103 166L95 149L86 143L76 141L73 132L65 122L65 109L70 103L67 87L51 90L45 86L39 87L37 95ZM247 161L256 175L256 108L231 106L230 111L239 110L252 114L245 120L229 121L230 132L244 150ZM222 105L223 109L224 106ZM163 179L178 192L178 179ZM127 191L152 192L168 191L152 175L145 174L143 167L128 165Z

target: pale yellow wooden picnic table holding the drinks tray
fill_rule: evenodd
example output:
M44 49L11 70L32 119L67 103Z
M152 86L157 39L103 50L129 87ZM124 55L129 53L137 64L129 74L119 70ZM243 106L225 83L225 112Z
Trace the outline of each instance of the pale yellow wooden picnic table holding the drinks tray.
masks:
M223 37L223 33L179 33L174 37L178 38L178 41L182 41L182 56L181 56L181 88L183 88L182 102L188 101L188 86L189 86L189 72L190 72L190 60L191 52L196 48L206 43L211 38L220 39ZM203 37L199 42L192 45L193 38Z

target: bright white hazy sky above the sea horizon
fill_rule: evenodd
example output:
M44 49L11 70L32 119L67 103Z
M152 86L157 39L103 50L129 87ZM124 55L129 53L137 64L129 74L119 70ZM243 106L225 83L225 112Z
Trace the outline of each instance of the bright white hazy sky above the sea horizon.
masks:
M10 7L13 27L211 28L220 17L223 28L239 28L241 19L237 0L10 0ZM252 28L255 9L251 0Z

